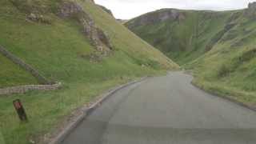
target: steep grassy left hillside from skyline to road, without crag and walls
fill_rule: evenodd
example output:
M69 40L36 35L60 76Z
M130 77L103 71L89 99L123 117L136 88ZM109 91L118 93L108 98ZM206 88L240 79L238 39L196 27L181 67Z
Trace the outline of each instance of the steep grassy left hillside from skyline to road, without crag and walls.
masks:
M77 1L110 38L112 49L102 54L83 33L81 23L58 16L59 2L0 0L0 45L46 78L63 84L61 90L0 97L0 127L6 143L37 142L62 118L110 87L178 68L94 3ZM35 14L39 16L34 18ZM1 87L37 83L1 54L0 60ZM15 98L22 100L29 122L19 122L12 106Z

